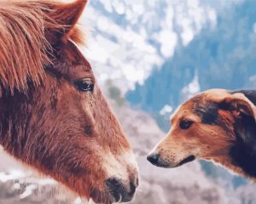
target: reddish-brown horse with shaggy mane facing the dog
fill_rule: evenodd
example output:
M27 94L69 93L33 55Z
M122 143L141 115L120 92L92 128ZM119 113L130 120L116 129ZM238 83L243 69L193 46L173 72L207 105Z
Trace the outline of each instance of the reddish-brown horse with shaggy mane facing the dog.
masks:
M0 144L80 196L131 201L134 155L77 47L85 4L0 1Z

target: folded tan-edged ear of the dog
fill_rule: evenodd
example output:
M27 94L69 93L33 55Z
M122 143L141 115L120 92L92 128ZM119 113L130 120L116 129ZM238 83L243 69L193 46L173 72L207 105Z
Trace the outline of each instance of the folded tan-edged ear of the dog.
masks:
M219 100L219 106L231 111L233 116L239 118L242 114L253 116L256 121L256 107L244 94L236 93L224 96Z

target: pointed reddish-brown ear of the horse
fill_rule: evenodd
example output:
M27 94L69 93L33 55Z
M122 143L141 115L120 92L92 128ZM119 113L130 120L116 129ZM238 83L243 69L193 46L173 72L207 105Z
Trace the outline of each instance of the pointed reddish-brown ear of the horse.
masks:
M62 42L67 42L68 38L76 31L74 27L87 2L88 0L76 0L73 3L55 4L55 7L48 14L50 19L60 25L60 29L55 31L54 41L61 39Z

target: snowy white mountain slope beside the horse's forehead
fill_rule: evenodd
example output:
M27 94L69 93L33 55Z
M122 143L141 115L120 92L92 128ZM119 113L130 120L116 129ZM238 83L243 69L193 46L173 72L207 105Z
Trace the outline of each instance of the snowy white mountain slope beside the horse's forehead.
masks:
M213 28L213 7L198 0L91 1L81 20L90 30L84 54L101 84L110 79L125 94L180 44L187 45L206 25Z

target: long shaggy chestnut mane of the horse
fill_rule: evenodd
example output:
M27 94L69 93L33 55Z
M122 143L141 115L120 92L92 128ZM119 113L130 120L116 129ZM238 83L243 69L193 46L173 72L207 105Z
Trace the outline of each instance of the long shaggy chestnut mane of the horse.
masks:
M57 1L0 0L0 85L11 92L27 89L27 81L35 85L43 81L44 65L50 64L49 31L61 31L61 25L49 14L63 3ZM65 3L64 3L65 4ZM69 39L81 43L78 26ZM1 92L1 91L0 91ZM1 94L0 94L1 97Z

